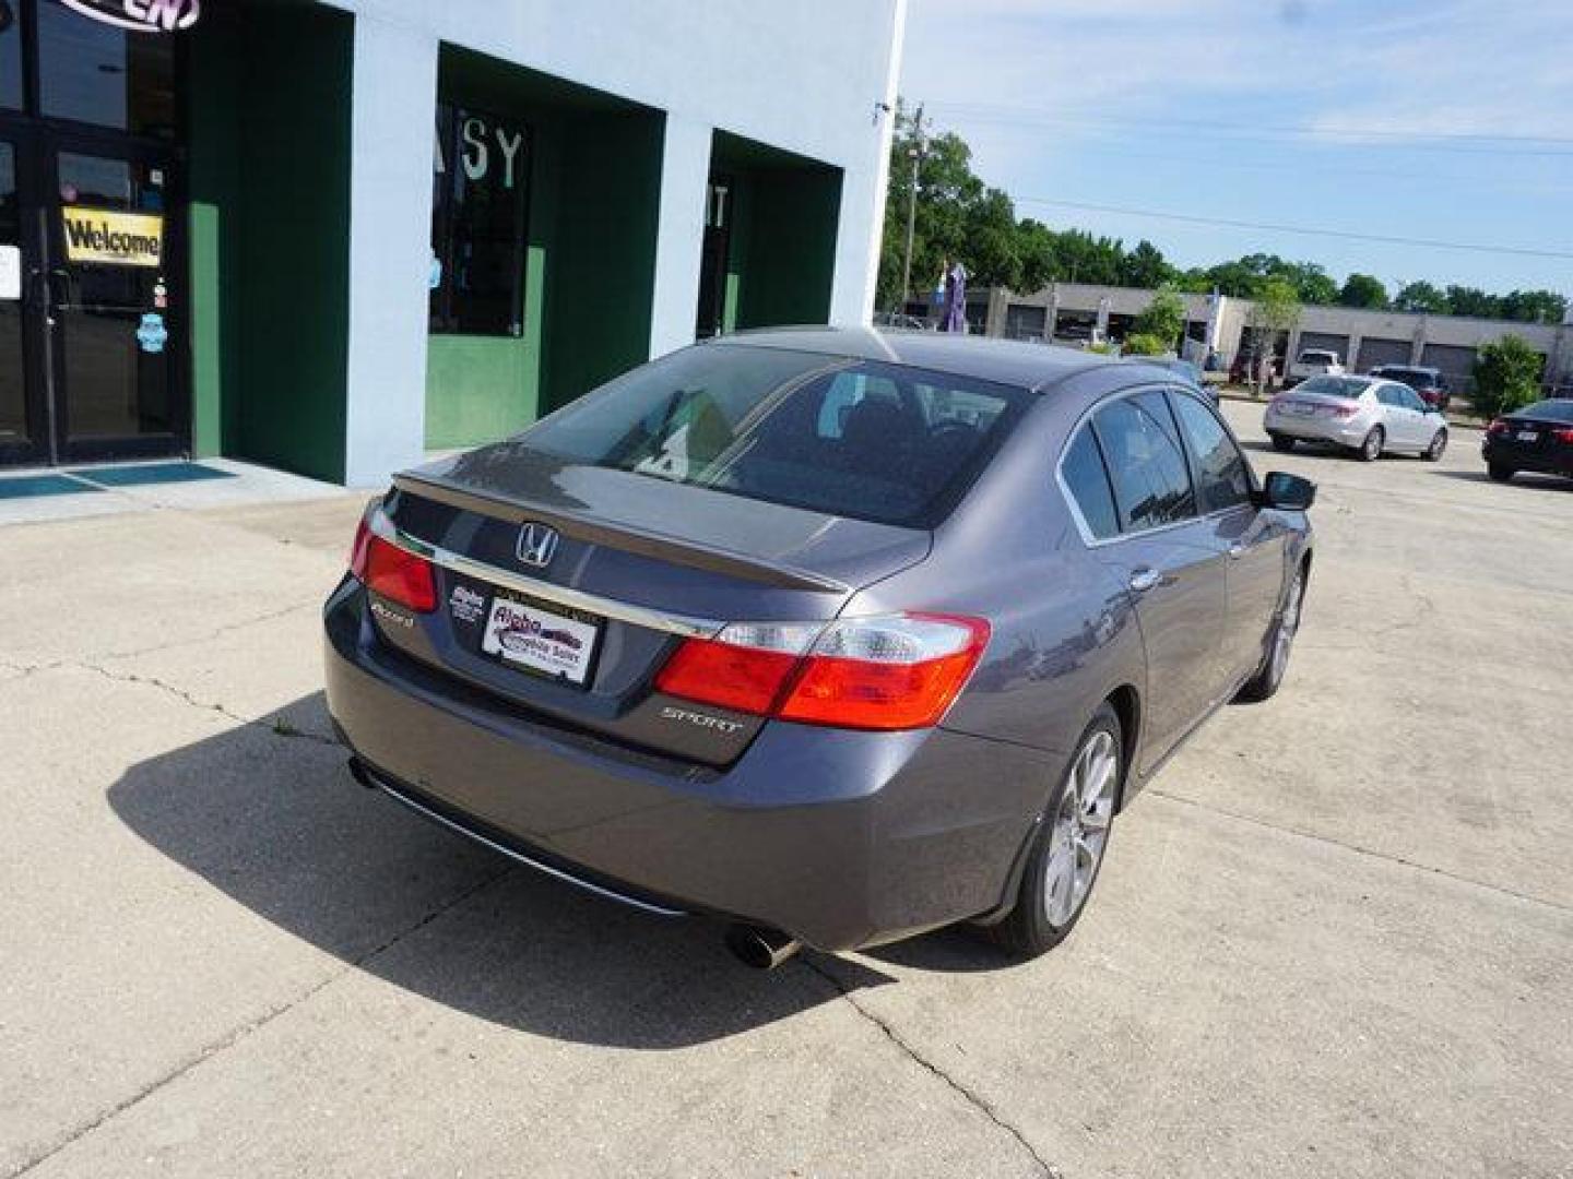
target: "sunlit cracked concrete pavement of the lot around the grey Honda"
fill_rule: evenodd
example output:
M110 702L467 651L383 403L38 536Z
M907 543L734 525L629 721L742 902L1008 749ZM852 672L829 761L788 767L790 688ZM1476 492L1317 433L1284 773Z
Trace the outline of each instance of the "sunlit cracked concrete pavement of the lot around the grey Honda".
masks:
M1074 937L733 964L352 786L360 497L0 528L0 1174L1573 1174L1573 486L1321 484Z

